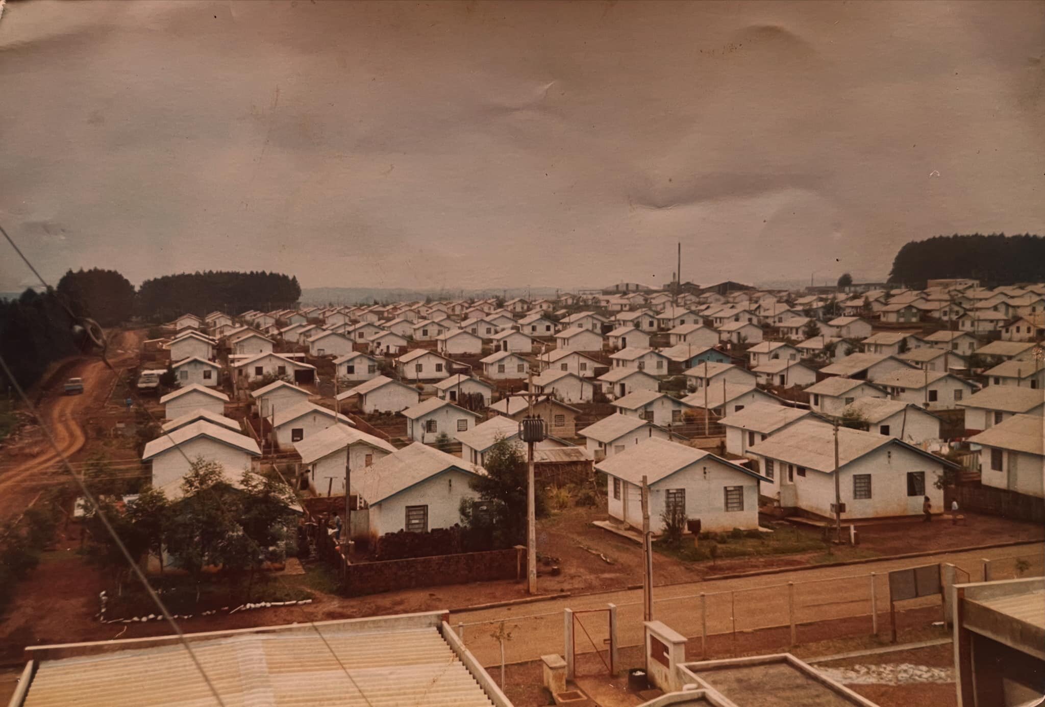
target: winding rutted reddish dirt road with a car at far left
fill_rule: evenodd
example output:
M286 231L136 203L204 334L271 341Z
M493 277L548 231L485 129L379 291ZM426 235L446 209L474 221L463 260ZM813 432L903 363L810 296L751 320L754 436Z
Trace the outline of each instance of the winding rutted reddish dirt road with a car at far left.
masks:
M109 360L119 370L127 367L138 356L142 331L120 331L111 334ZM69 369L67 377L84 379L84 394L67 396L63 394L64 380L56 381L45 393L39 409L43 424L47 426L61 453L66 458L75 454L84 446L86 437L82 422L91 410L100 409L106 404L115 380L115 374L97 356L83 357ZM56 470L61 456L47 439L36 435L29 446L20 445L3 455L0 463L0 519L8 518L25 510L26 504L39 493L40 486L28 484L47 476L64 473Z

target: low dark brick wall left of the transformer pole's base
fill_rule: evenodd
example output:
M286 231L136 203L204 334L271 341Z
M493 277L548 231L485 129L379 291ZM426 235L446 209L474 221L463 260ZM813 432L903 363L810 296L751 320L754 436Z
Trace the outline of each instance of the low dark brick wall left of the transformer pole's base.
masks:
M524 547L365 562L346 567L348 592L356 595L490 580L517 581L525 573Z

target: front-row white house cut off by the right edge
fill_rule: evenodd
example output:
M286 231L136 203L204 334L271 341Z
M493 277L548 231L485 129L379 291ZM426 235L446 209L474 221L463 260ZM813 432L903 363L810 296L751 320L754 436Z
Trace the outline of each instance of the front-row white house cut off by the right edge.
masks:
M980 481L1037 498L1045 497L1045 433L1040 415L1014 415L969 439L981 445Z

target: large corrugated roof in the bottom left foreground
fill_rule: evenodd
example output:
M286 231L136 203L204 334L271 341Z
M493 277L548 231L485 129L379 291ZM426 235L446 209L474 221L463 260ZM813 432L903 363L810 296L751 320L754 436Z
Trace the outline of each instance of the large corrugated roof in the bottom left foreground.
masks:
M247 634L193 642L192 649L230 707L493 704L435 628L348 632L325 626L322 637ZM72 704L187 707L212 705L214 698L184 646L170 644L42 661L25 707Z

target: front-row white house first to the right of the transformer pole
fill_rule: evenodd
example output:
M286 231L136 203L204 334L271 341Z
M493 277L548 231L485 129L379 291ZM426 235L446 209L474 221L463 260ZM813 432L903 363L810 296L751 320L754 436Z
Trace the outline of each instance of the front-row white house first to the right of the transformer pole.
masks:
M650 529L664 533L663 516L675 510L699 519L701 531L759 527L760 474L709 451L647 439L596 465L606 474L611 518L643 527L643 477L649 490Z

